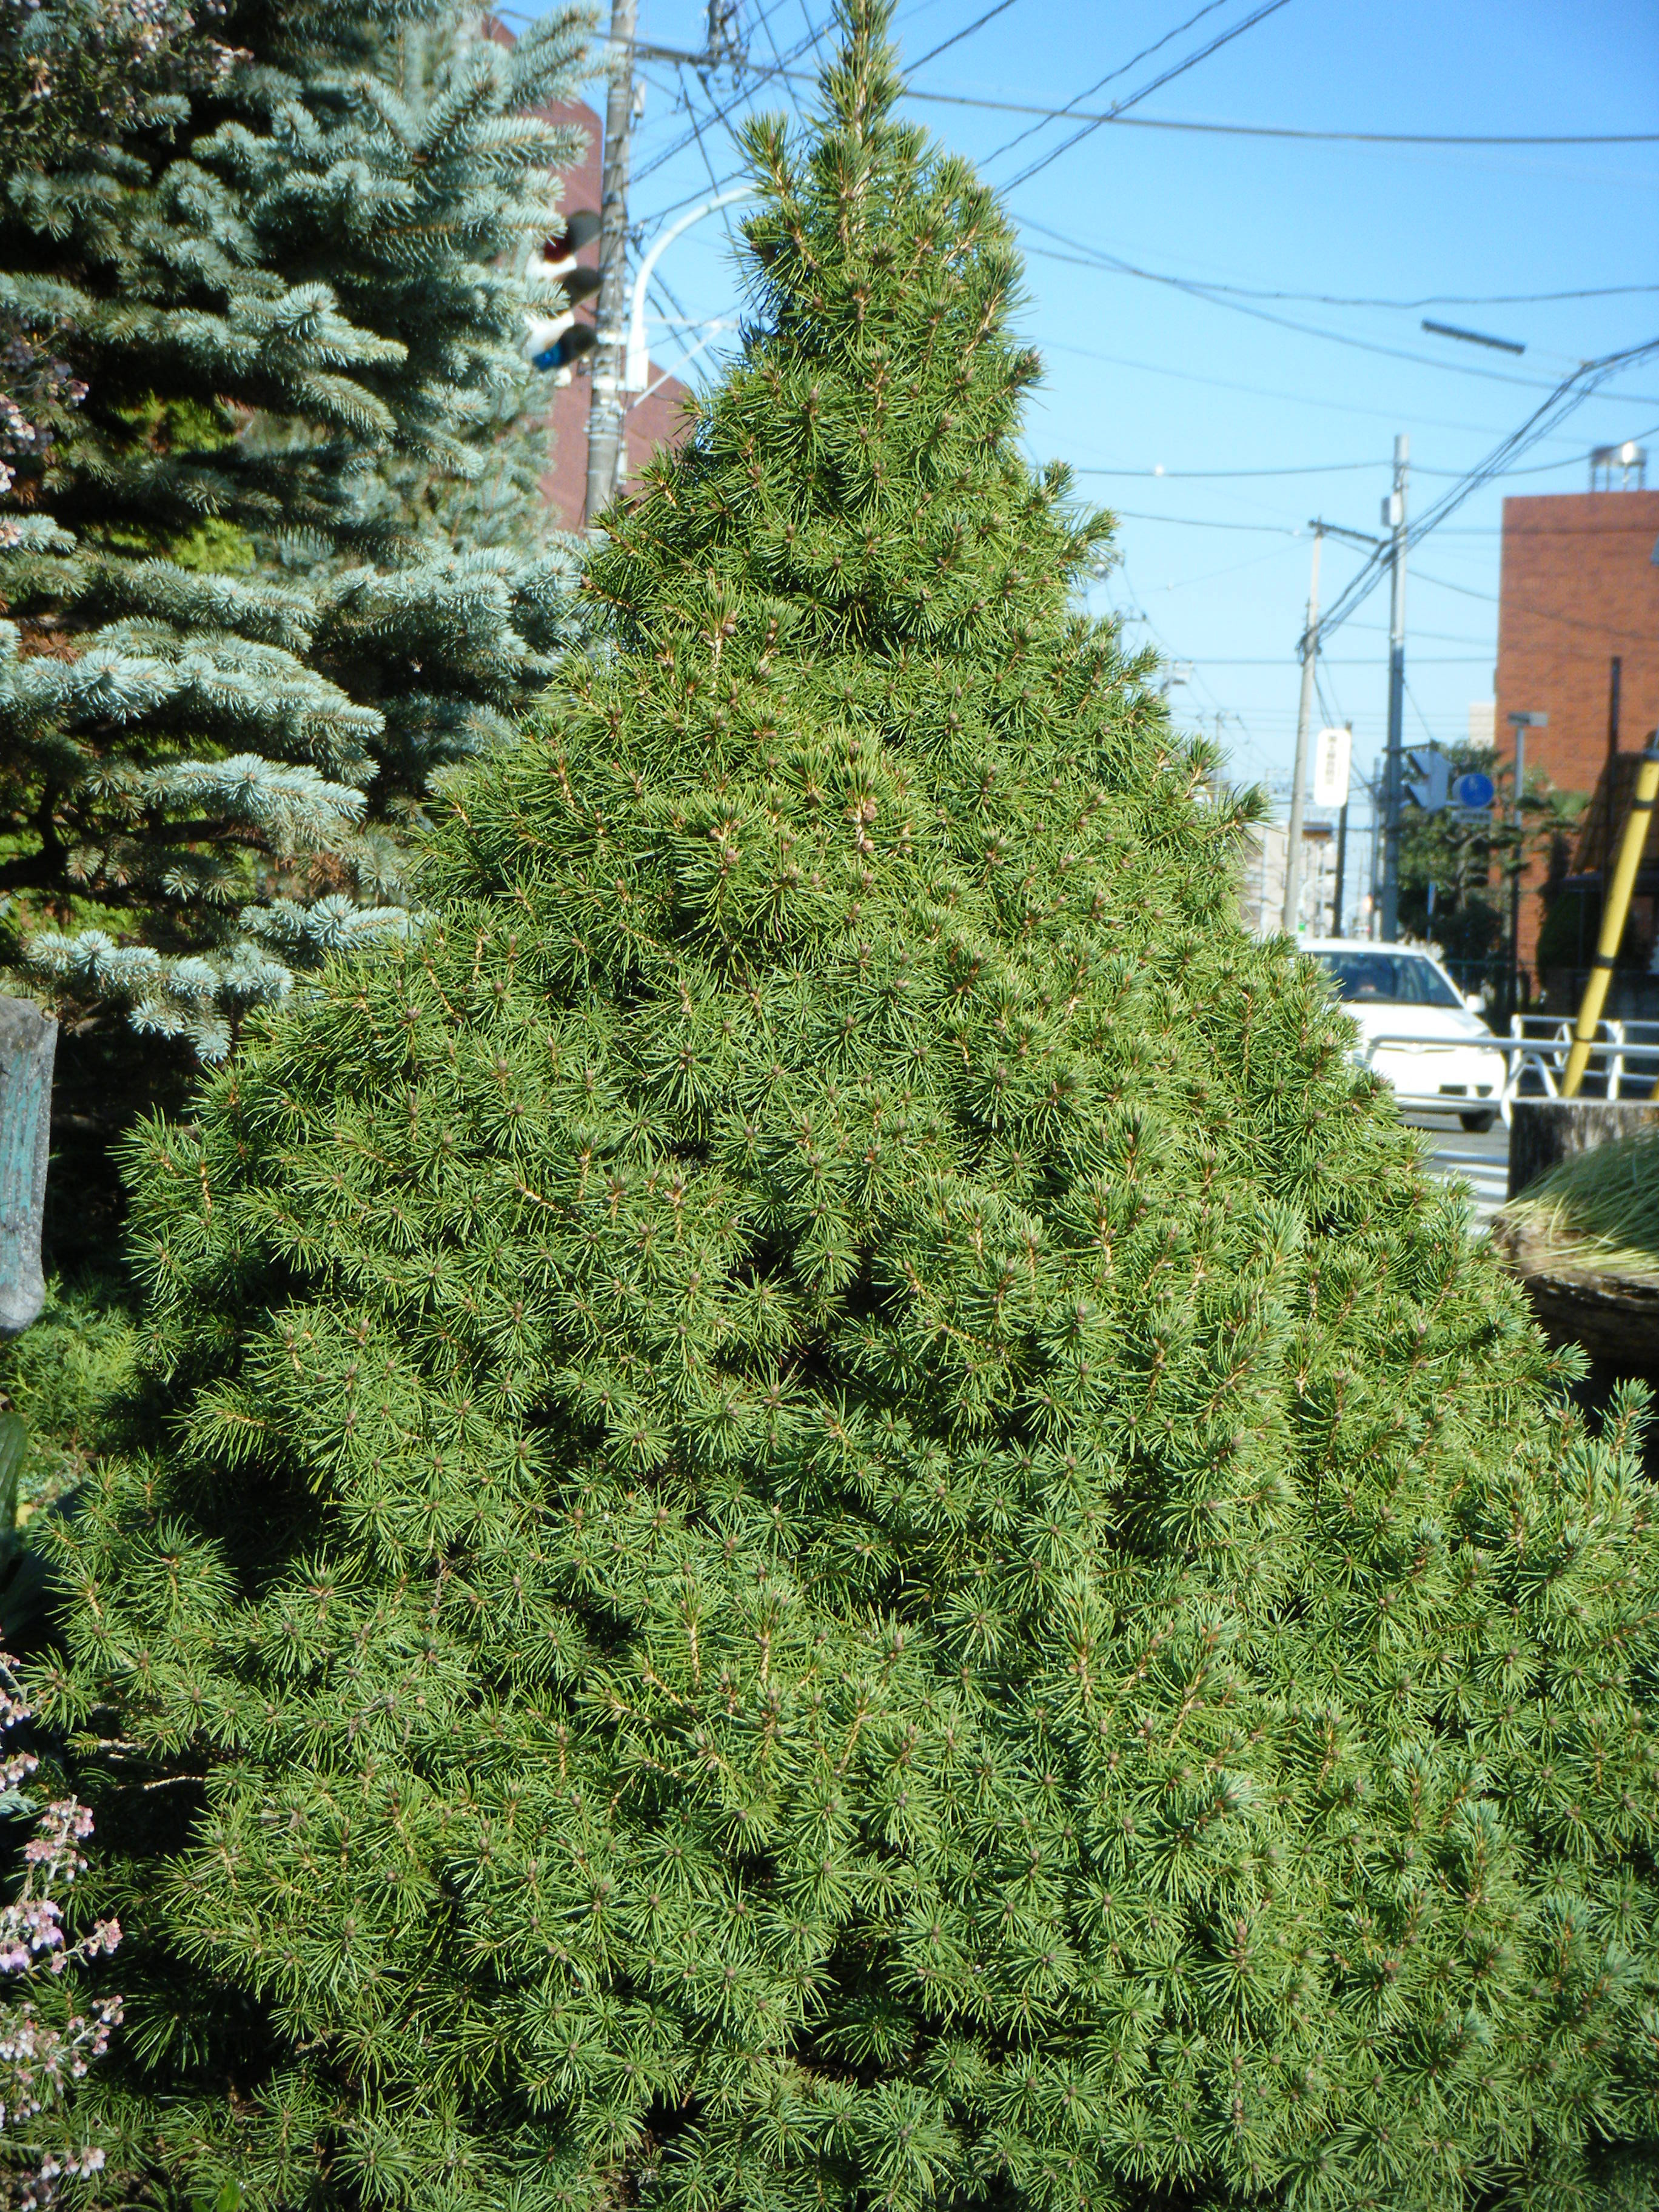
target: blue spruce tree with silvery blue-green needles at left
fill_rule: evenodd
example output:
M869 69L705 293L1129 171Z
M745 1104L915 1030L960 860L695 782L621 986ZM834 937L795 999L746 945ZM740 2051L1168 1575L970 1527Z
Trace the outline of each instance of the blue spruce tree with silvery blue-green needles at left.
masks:
M0 148L0 321L51 405L9 425L0 896L73 1033L124 1009L215 1062L405 925L434 776L568 639L568 546L458 546L392 480L465 482L526 396L573 153L533 111L586 15L511 51L451 0L133 18L166 35L44 0L2 58L44 97Z

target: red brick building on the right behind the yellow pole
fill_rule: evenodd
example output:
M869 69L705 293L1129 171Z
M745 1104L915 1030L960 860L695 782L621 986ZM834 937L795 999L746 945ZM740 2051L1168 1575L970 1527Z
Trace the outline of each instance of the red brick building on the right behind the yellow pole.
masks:
M1608 754L1639 752L1659 723L1659 491L1504 500L1498 608L1498 750L1506 714L1548 714L1526 732L1526 770L1593 792ZM1522 900L1522 962L1542 914Z

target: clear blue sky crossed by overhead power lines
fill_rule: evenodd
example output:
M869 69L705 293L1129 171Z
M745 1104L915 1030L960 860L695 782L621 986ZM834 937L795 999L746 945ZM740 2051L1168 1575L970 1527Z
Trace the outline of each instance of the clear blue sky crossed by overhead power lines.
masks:
M949 95L916 100L911 113L1004 186L1075 124L1042 126L1000 150L1033 117L953 102L1064 106L1199 15L1203 0L1011 0L922 60L991 4L900 0L896 31L914 86ZM1221 0L1082 106L1099 111L1137 91L1256 4ZM779 60L807 71L827 0L741 0L739 20L752 73ZM701 49L703 35L706 9L695 0L639 0L641 40ZM732 122L748 106L812 97L799 77L774 75L732 104L730 75L703 84L664 62L648 62L644 75L630 215L646 237L666 210L706 195L710 179L732 177ZM1659 9L1652 0L1283 0L1133 113L1360 133L1659 133ZM1121 566L1097 602L1130 617L1133 639L1190 664L1175 708L1212 734L1219 728L1248 781L1283 785L1290 774L1310 518L1378 529L1396 429L1411 438L1411 507L1420 511L1579 361L1659 334L1659 144L1363 146L1117 124L1060 153L1006 199L1029 257L1020 321L1046 363L1026 447L1037 460L1071 462L1079 491L1119 513ZM1077 246L1210 285L1343 301L1444 294L1453 303L1248 299L1225 307L1150 276L1055 259ZM670 319L706 325L734 314L721 219L675 243L661 274L668 290L655 301L653 352L668 363ZM1650 290L1486 303L1491 294L1613 285ZM1243 307L1310 327L1287 330ZM1429 336L1418 327L1425 312L1526 352ZM703 365L723 343L717 334ZM1420 546L1407 602L1407 743L1460 739L1469 701L1491 695L1502 491L1582 491L1588 447L1621 438L1644 438L1648 482L1659 482L1659 356L1528 453L1531 473L1478 493ZM1312 473L1203 473L1292 469ZM1325 542L1327 599L1356 560ZM1354 721L1367 765L1385 730L1385 593L1376 593L1327 646L1327 708Z

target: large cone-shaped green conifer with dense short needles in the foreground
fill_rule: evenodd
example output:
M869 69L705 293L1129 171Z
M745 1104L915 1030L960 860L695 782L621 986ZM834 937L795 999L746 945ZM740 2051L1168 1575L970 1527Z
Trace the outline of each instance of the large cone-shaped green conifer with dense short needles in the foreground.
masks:
M434 927L135 1170L38 1692L153 2201L1646 2205L1659 1555L849 0ZM226 2192L215 2194L215 2192Z

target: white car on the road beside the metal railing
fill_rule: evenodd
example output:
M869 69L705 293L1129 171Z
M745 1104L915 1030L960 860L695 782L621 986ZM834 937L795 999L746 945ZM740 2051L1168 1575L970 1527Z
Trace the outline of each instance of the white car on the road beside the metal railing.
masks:
M1325 969L1358 1026L1354 1057L1394 1084L1400 1106L1455 1113L1469 1130L1493 1126L1506 1057L1498 1046L1482 1051L1491 1029L1480 1020L1480 998L1464 998L1433 953L1363 938L1303 938L1301 949Z

